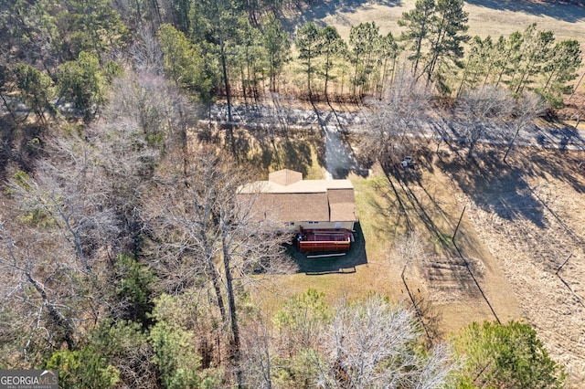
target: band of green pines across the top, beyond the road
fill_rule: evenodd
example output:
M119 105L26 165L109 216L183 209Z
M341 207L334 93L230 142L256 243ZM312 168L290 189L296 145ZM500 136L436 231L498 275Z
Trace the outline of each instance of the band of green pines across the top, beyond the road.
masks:
M311 5L300 0L94 3L1 5L5 110L22 102L42 121L39 114L54 115L57 106L88 121L128 66L164 72L193 100L229 106L269 91L361 100L380 95L400 68L410 68L441 96L495 85L514 95L534 90L560 108L582 62L577 40L558 40L537 25L470 37L460 0L417 1L399 19L399 36L381 34L372 21L352 26L346 40L335 27L313 22L287 31L282 20Z

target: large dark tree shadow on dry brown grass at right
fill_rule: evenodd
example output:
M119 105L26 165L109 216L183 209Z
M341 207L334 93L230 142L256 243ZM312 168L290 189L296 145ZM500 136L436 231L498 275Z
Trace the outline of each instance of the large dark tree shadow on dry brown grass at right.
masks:
M440 159L438 166L484 211L505 220L526 218L544 228L544 207L527 182L531 172L526 166L502 163L501 159L499 152L489 151L477 160Z

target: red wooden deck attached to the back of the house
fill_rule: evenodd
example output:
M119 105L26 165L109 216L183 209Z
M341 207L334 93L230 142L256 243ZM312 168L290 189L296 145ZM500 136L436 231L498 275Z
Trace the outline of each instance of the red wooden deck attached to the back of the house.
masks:
M352 232L346 229L301 229L297 239L302 253L317 251L347 251L351 246Z

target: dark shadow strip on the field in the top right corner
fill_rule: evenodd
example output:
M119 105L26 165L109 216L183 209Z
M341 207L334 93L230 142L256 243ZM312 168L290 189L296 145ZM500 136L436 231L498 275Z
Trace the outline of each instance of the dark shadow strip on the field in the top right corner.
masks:
M498 0L467 0L467 3L498 11L506 10L534 16L548 16L569 23L577 23L585 19L585 9L577 5Z

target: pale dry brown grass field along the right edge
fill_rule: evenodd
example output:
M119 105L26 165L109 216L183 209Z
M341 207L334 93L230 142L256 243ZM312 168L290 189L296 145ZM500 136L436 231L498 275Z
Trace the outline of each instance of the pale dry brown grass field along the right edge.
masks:
M585 160L583 152L519 149L511 166L484 167L478 195L467 189L469 219L505 274L526 318L572 384L585 374ZM457 174L451 172L453 174ZM574 295L556 275L578 293Z

